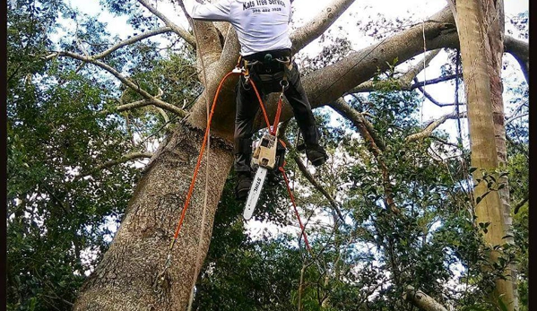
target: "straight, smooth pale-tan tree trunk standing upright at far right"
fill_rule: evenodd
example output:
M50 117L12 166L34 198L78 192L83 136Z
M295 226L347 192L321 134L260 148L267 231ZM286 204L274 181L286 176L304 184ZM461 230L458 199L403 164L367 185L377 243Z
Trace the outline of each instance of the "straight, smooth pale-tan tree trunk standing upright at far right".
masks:
M468 102L468 121L470 123L470 137L472 141L472 167L477 168L473 173L474 180L483 178L483 171L492 174L498 169L498 146L495 134L495 120L493 117L494 106L498 109L498 102L502 106L501 80L498 74L498 65L501 52L498 52L498 42L503 42L503 35L498 33L498 27L492 27L487 19L489 10L482 7L478 0L457 1L457 30L463 59L463 77ZM503 12L503 9L499 11ZM485 15L485 12L488 12ZM496 12L496 10L495 10ZM501 20L501 19L500 19ZM498 16L494 22L498 22ZM501 28L501 27L500 27ZM499 36L493 44L494 56L492 55L490 37ZM498 54L500 55L498 56ZM493 60L494 58L494 60ZM495 70L491 70L494 68ZM499 67L500 69L501 67ZM498 98L499 91L499 98ZM499 101L498 101L499 100ZM504 129L505 131L505 129ZM504 133L505 137L505 133ZM498 179L498 178L497 178ZM489 223L489 227L483 232L485 242L490 246L501 246L506 241L506 226L504 206L498 191L490 191L487 182L481 181L474 188L475 197L480 198L475 205L475 215L478 223ZM489 192L489 194L487 194ZM499 253L490 253L490 262L498 261ZM510 274L509 271L506 275ZM508 310L514 309L513 284L510 280L497 280L493 302L498 303L501 299Z

